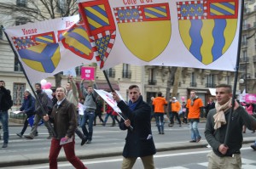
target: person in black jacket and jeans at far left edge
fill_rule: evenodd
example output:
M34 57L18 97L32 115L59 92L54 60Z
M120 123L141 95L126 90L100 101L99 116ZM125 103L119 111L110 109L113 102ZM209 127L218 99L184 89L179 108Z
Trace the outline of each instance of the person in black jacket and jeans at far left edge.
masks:
M8 147L9 141L9 128L8 128L8 110L11 108L13 102L10 91L5 88L5 82L0 81L0 121L3 125L3 146Z

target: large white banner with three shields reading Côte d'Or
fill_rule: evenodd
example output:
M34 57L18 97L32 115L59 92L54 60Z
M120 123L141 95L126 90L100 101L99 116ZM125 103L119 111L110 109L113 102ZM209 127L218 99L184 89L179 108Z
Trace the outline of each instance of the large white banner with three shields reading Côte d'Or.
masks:
M79 8L102 69L236 68L241 1L80 0Z

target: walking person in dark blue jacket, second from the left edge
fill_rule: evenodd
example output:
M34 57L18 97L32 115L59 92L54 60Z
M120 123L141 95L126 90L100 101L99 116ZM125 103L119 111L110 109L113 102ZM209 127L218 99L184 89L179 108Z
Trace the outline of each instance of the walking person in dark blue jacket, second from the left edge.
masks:
M26 119L24 121L24 125L23 128L21 130L21 132L17 133L17 136L19 136L20 138L22 138L24 132L26 132L26 128L28 126L28 119L30 117L32 117L32 115L35 115L35 99L32 96L32 94L29 92L28 89L26 89L24 91L24 100L23 103L20 107L20 111L22 111L22 113L26 114Z

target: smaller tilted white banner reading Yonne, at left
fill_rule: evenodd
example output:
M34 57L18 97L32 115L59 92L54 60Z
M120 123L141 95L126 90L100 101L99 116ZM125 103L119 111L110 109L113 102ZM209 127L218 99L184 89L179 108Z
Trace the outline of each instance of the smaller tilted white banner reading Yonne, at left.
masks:
M5 30L32 83L96 62L84 23L79 20L75 15Z

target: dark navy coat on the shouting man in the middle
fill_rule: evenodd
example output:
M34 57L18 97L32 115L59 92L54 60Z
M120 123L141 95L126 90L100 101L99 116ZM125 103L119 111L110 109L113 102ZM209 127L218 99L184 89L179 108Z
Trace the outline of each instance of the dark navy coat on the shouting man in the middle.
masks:
M143 102L143 97L137 100L137 105L134 110L131 110L124 101L120 101L119 109L131 121L133 130L125 127L124 121L120 121L119 128L127 131L125 138L125 147L123 156L127 157L143 157L154 155L156 150L154 147L154 140L151 131L151 117L150 106Z

